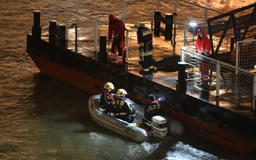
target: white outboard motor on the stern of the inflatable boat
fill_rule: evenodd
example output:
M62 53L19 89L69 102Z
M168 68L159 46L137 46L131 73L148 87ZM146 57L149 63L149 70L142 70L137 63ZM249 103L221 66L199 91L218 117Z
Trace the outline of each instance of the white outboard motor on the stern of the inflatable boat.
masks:
M152 117L151 128L151 132L148 132L149 137L165 137L168 130L165 118L161 116Z

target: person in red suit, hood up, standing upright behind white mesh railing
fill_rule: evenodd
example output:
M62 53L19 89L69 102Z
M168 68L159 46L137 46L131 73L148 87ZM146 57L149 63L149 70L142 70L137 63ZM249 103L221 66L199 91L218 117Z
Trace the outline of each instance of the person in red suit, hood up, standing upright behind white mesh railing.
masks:
M199 29L197 32L197 37L195 52L208 57L210 55L211 42L210 39L206 36L206 30L204 28ZM202 59L201 62L199 62L199 70L201 73L201 82L199 84L203 87L207 87L209 62L205 59Z

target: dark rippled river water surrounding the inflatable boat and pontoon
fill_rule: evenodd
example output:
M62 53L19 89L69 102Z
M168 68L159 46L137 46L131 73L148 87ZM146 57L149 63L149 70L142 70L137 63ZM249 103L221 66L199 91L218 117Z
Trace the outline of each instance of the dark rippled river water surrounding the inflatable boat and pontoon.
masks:
M248 2L237 1L197 3L225 12ZM190 133L137 143L98 126L87 109L92 95L43 76L26 53L33 10L41 10L42 30L48 31L47 2L0 0L1 160L256 159L255 154L242 155Z

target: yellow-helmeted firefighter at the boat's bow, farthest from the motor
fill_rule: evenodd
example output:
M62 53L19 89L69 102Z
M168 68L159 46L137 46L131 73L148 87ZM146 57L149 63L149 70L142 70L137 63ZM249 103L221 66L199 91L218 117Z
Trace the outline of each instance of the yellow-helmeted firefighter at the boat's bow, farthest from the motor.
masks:
M103 89L101 89L100 106L106 109L108 105L114 100L111 91L114 90L114 85L111 82L107 82Z

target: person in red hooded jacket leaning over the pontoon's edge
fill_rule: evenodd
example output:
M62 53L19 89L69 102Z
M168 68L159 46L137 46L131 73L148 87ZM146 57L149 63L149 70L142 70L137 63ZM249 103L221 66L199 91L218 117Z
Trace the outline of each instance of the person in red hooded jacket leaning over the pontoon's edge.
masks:
M108 42L111 42L112 36L114 34L112 46L111 46L111 57L108 62L116 61L116 53L118 51L118 61L116 66L123 65L123 55L124 55L124 31L126 27L122 20L114 17L114 15L108 16L110 21L108 24ZM113 33L114 32L114 33Z

